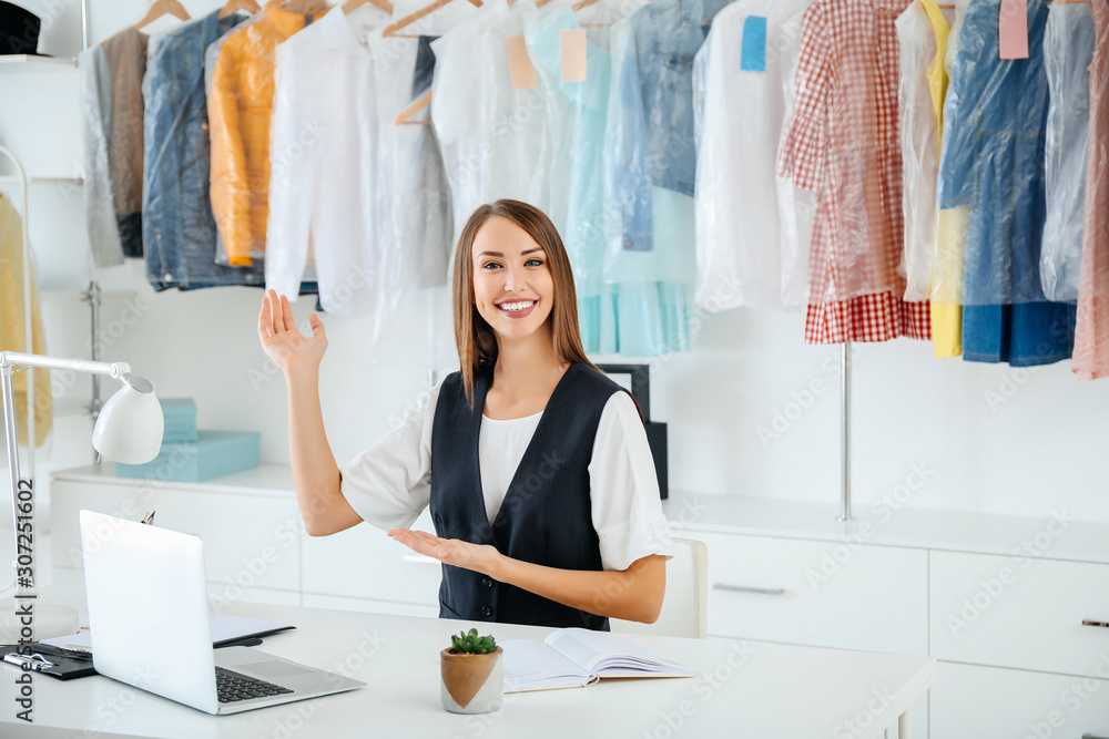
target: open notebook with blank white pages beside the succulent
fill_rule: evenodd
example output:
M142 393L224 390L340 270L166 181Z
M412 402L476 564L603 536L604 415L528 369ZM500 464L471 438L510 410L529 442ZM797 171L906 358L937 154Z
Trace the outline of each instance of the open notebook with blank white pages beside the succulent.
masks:
M505 692L579 688L602 677L693 677L696 673L642 642L563 628L543 642L501 642Z

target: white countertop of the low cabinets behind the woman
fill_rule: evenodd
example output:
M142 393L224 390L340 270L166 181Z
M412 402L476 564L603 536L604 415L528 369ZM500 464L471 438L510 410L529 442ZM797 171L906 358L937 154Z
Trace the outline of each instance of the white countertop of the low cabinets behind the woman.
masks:
M203 490L247 495L286 497L295 494L287 464L261 464L252 470L206 482L157 482L115 476L115 465L90 464L53 473L54 480L143 486L150 484L181 490ZM695 532L718 532L752 536L842 542L973 552L1000 556L1028 555L1109 564L1109 524L1052 521L1044 517L1004 516L962 511L923 509L864 510L856 520L836 521L838 503L783 501L752 496L692 495L672 493L662 503L672 532L696 538ZM1065 524L1065 525L1064 525ZM1024 547L1024 548L1022 548Z

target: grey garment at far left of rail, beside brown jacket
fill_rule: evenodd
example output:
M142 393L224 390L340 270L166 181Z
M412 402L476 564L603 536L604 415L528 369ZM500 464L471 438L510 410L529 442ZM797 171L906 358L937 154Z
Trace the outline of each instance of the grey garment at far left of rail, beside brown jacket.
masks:
M112 195L108 164L112 130L112 72L103 49L94 47L78 55L81 74L81 112L84 136L84 214L89 247L96 267L123 264L123 245Z

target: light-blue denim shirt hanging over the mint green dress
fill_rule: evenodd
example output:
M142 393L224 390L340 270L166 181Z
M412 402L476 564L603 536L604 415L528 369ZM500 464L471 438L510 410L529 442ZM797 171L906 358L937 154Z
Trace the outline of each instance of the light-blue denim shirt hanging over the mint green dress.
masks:
M628 20L620 64L613 189L624 248L653 248L651 185L692 197L696 171L693 58L731 0L655 0Z

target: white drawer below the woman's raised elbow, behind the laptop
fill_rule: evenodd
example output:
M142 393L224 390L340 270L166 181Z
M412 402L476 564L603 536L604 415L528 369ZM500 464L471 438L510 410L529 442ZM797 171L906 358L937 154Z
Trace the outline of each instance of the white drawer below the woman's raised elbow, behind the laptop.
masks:
M427 511L411 527L435 531ZM330 536L302 536L305 594L438 605L439 562L384 531L359 524Z

